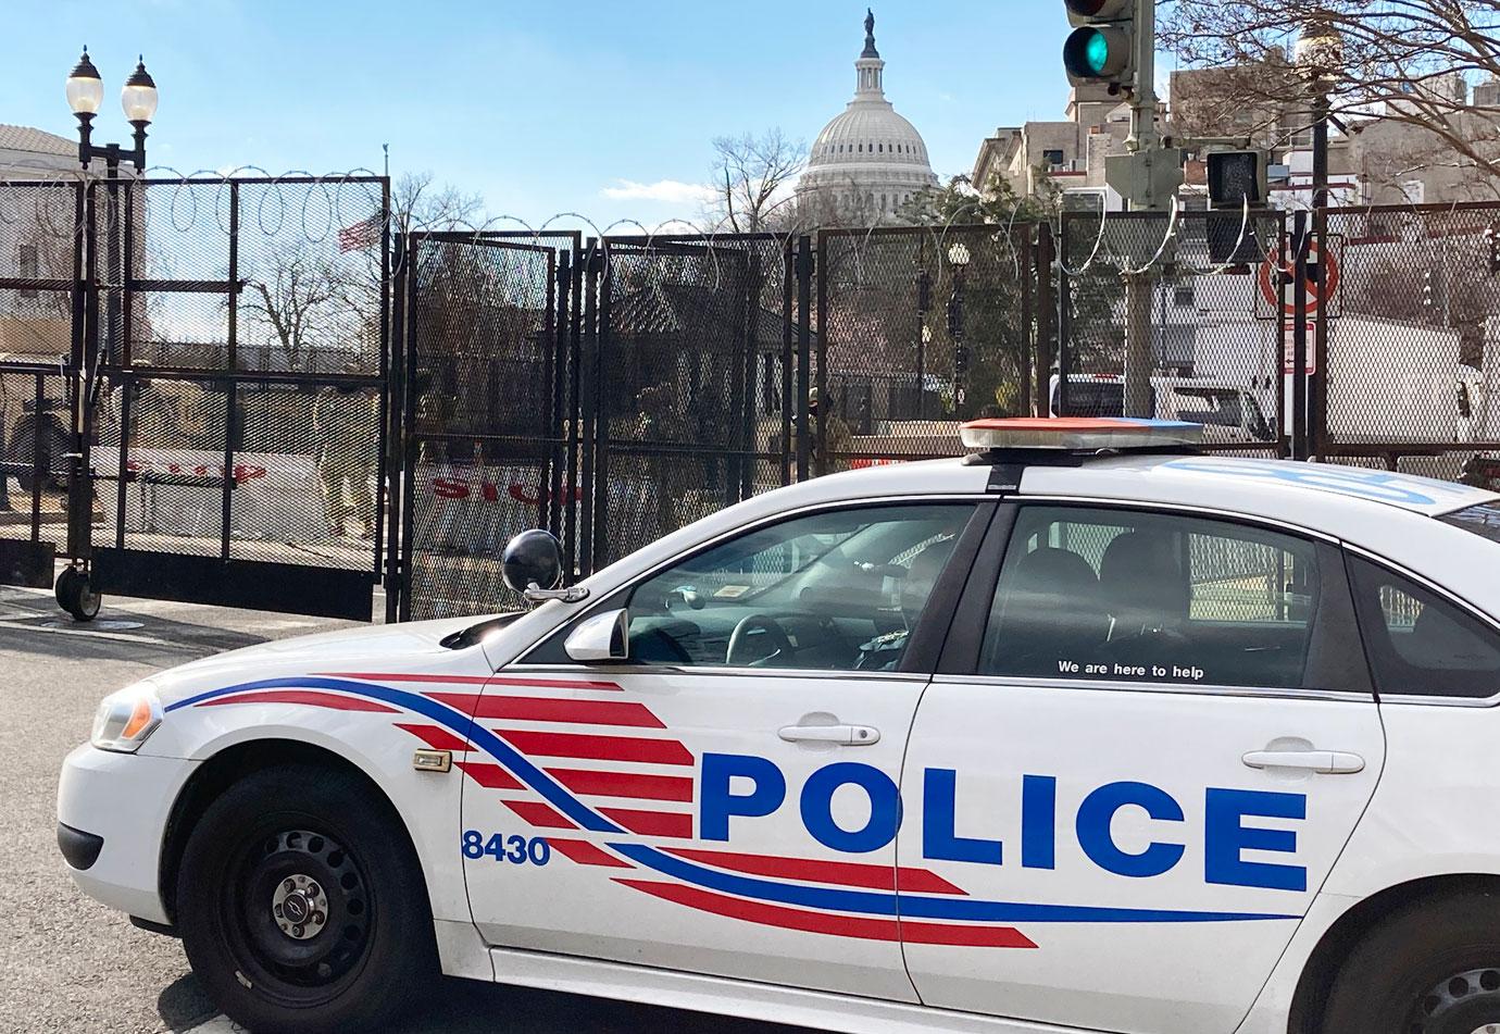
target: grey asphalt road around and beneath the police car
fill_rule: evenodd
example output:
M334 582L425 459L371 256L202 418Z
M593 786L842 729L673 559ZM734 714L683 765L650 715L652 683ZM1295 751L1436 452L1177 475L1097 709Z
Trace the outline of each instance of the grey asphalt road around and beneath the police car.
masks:
M182 945L84 897L57 854L57 773L88 738L99 699L153 671L338 621L182 603L105 600L90 626L51 593L0 587L0 1031L190 1031L232 1026ZM390 1034L790 1034L648 1005L446 980L420 1020Z

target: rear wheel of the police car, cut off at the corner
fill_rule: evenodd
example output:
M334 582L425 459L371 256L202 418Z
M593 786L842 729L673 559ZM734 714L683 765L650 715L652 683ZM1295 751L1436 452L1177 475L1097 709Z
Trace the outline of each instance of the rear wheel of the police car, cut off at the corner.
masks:
M1340 966L1320 1034L1473 1034L1500 1026L1500 896L1407 905Z

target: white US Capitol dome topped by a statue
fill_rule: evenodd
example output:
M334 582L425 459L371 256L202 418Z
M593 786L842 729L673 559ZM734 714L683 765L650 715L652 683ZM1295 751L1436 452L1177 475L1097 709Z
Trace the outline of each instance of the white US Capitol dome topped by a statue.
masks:
M873 12L866 12L864 53L854 66L854 101L818 134L796 198L819 215L874 222L896 215L914 194L938 186L938 177L921 134L885 99Z

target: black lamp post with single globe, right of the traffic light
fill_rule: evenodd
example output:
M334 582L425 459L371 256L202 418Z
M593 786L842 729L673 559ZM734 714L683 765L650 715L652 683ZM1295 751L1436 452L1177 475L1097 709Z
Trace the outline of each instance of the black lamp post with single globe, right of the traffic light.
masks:
M1310 278L1316 284L1323 284L1328 269L1328 128L1332 116L1329 96L1336 83L1344 62L1344 38L1338 29L1326 21L1312 21L1298 38L1296 63L1311 89L1312 116L1312 240L1317 242L1318 261L1308 266ZM1294 290L1302 290L1296 285ZM1310 446L1314 455L1323 453L1323 425L1328 413L1328 305L1330 299L1323 299L1312 321L1312 380L1311 392L1306 398L1306 429ZM1298 321L1294 329L1298 341L1302 341L1300 351L1306 351L1306 327ZM1294 372L1298 378L1306 377L1305 366Z

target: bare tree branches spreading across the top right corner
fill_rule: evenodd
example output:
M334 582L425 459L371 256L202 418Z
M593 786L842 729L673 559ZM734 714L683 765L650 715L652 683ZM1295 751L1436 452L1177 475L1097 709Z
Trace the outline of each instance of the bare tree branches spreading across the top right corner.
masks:
M1338 47L1314 54L1334 116L1352 129L1420 131L1401 135L1404 153L1376 177L1449 167L1500 180L1500 107L1468 102L1468 84L1500 78L1500 0L1167 0L1161 24L1162 45L1184 65L1216 71L1196 92L1202 110L1174 104L1179 131L1236 114L1236 135L1288 129L1288 111L1311 96L1304 75L1312 69L1292 57L1296 41L1336 33ZM1258 125L1244 125L1246 111ZM1389 155L1386 143L1366 153Z

